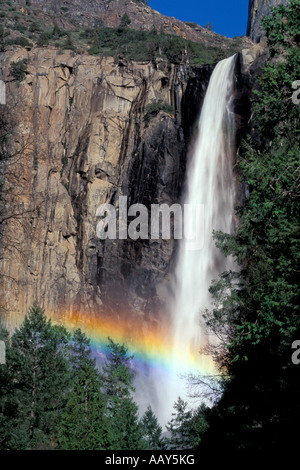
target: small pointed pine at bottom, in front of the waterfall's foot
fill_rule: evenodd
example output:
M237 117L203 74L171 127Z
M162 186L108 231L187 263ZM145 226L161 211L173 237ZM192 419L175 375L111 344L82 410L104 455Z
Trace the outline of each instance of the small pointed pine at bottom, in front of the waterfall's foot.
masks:
M192 412L187 410L187 402L181 397L174 403L172 418L166 425L170 433L167 447L170 450L183 450L191 447L189 423L192 419Z

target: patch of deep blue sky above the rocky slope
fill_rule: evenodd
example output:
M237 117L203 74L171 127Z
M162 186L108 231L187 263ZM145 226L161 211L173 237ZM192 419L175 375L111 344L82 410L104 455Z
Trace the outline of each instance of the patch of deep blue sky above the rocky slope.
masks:
M249 0L149 0L163 15L200 26L212 23L216 33L227 37L246 34L248 4Z

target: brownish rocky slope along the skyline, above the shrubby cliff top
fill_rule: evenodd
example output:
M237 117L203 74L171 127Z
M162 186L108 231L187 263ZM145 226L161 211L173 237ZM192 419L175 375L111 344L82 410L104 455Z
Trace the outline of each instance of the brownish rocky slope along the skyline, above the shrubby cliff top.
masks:
M65 30L82 27L118 27L123 15L130 18L129 28L150 31L155 28L165 34L175 34L184 39L208 46L228 49L232 40L193 22L183 22L153 10L138 0L13 0L24 14L34 14L35 19L48 26L57 24ZM247 37L241 39L244 47L250 46ZM234 45L233 45L234 46Z

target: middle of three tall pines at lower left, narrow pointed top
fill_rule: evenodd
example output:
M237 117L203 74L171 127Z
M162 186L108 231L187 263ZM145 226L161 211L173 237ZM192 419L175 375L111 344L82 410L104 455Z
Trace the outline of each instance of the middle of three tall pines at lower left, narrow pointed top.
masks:
M100 375L91 357L90 340L76 330L71 341L71 390L58 426L63 450L103 450L107 446L105 401Z

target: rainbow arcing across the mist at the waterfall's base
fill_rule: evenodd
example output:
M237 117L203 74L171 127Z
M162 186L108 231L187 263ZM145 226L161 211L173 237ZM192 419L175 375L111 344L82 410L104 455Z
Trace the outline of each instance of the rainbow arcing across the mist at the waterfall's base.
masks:
M81 328L90 338L96 356L104 357L110 337L125 344L128 353L134 356L137 369L178 370L201 375L216 373L212 358L199 352L204 344L197 345L194 350L182 351L180 345L173 344L167 322L146 321L141 316L128 313L104 315L84 312L54 316L52 321L70 331Z

